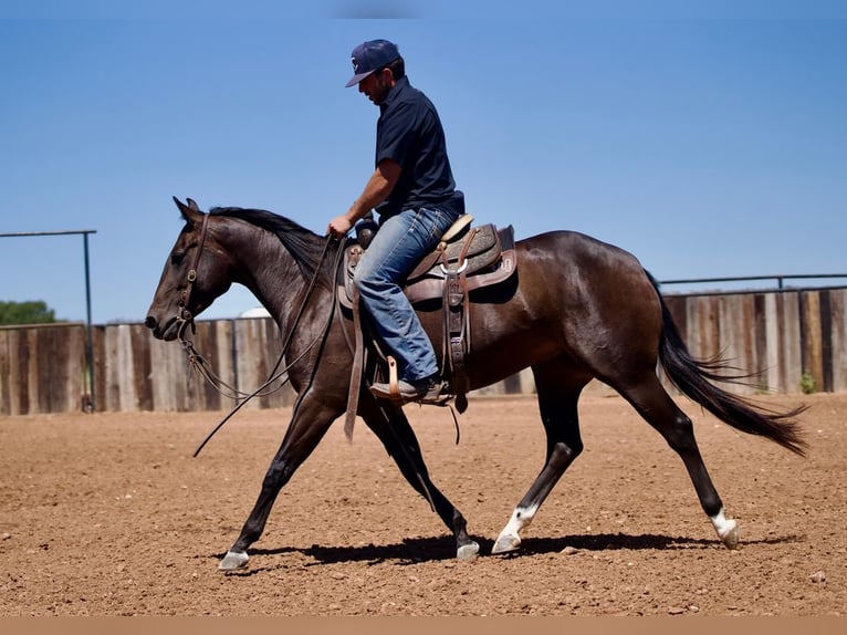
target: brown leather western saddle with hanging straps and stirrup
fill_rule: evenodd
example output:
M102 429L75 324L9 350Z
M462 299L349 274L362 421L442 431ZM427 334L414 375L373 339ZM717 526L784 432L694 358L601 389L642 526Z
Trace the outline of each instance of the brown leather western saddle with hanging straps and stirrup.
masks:
M402 285L404 293L412 305L425 301L441 301L442 377L450 386L450 395L456 397L459 413L467 409L467 393L470 391L470 292L500 284L517 270L512 226L504 229L498 229L492 223L471 227L472 220L470 215L461 216L447 230L436 248L412 269ZM366 231L358 230L357 225L357 241L345 248L337 290L342 306L353 312L356 340L345 424L348 439L352 438L358 405L365 353L363 325L358 314L358 293L353 284L353 274L369 243L369 236ZM396 385L396 364L393 362L394 360L388 357L390 381Z

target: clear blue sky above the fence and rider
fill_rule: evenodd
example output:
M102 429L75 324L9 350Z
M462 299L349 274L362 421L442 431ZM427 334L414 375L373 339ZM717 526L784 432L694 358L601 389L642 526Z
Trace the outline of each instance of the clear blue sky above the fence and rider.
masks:
M0 232L96 230L95 323L144 320L181 227L171 196L321 233L347 209L378 111L344 83L374 38L437 105L481 222L589 233L660 280L847 272L838 3L157 4L0 9ZM368 15L402 19L348 19ZM0 300L85 320L82 246L0 238ZM255 305L233 289L203 316Z

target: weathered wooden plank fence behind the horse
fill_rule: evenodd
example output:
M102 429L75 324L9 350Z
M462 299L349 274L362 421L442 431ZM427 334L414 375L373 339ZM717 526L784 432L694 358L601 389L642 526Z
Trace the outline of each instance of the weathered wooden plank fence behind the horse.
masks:
M667 302L692 354L762 371L755 386L733 392L798 393L804 374L817 391L847 389L847 289L668 295ZM200 321L195 343L216 374L243 392L268 378L281 347L270 319ZM84 324L0 329L0 415L84 409L92 399L85 358ZM236 403L189 369L178 344L155 340L142 324L94 326L92 358L97 412L227 410ZM525 371L478 394L533 389ZM244 407L293 399L286 385Z

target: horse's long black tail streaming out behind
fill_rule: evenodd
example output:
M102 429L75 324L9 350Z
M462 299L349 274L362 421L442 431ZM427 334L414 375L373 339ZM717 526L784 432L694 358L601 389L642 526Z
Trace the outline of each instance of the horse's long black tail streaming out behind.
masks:
M766 437L774 443L805 456L808 447L803 439L797 415L806 409L799 406L786 413L780 413L754 406L751 403L720 388L714 383L747 384L753 375L728 375L730 366L722 360L696 360L673 322L665 300L659 292L659 285L648 273L661 303L662 332L659 343L659 361L671 381L684 395L700 404L715 417L733 428L750 435Z

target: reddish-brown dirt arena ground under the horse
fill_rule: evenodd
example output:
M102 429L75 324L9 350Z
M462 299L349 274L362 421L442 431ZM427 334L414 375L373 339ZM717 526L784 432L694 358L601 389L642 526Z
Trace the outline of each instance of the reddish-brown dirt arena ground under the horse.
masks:
M524 534L493 540L541 468L532 398L459 417L408 407L435 482L482 553L451 537L359 423L283 490L249 569L223 575L287 424L242 410L0 418L0 616L780 615L847 612L847 394L812 405L806 459L680 405L742 545L724 549L681 461L619 397L582 402L586 450Z

